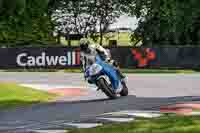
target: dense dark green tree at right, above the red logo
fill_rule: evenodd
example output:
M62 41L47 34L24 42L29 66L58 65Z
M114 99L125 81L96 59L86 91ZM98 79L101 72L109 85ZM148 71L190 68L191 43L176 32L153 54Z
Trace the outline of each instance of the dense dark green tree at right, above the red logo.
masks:
M135 34L145 45L200 44L198 0L136 0L132 14L141 19Z

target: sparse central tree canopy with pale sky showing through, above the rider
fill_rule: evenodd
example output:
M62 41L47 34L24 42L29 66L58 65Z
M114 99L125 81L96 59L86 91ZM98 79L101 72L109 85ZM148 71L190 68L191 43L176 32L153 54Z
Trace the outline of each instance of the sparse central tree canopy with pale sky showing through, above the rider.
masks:
M119 0L60 0L59 3L53 15L57 30L89 35L95 41L100 36L101 45L110 24L122 14Z

